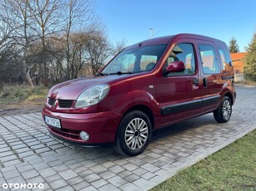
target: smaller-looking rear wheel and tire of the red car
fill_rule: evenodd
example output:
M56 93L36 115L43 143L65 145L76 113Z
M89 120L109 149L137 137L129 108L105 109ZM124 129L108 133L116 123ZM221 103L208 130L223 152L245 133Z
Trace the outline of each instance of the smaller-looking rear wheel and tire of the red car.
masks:
M230 120L232 114L232 102L228 96L224 96L218 109L213 111L214 119L218 123L226 123Z

